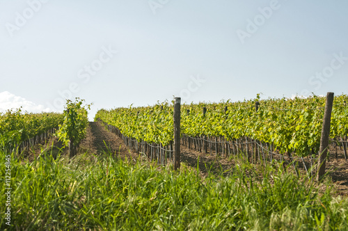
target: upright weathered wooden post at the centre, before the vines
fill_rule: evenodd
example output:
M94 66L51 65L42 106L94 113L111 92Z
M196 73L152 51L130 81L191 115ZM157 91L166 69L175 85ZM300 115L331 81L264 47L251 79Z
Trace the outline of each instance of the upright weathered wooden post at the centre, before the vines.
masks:
M174 170L180 168L180 97L175 97L174 104Z

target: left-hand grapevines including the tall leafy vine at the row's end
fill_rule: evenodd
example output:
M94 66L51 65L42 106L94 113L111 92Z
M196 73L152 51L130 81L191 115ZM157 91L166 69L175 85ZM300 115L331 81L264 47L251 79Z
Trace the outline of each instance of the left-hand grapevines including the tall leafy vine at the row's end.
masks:
M22 113L21 109L0 114L0 148L20 153L55 134L65 146L69 145L73 157L88 126L86 108L90 105L85 108L83 102L79 98L68 100L63 114Z

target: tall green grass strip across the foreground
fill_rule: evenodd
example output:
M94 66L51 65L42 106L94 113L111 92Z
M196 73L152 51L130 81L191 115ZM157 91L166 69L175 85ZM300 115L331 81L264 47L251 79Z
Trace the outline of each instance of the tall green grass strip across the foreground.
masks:
M348 230L347 199L270 168L202 179L185 167L45 154L12 159L8 227L3 163L1 153L0 230Z

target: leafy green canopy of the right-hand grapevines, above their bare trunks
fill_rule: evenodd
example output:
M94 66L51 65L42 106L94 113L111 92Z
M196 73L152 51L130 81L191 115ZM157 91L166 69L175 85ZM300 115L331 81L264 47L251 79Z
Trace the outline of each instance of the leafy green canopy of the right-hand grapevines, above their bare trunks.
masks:
M334 99L331 138L348 134L347 95ZM258 111L255 103L260 104ZM182 105L182 134L223 137L227 141L249 137L271 143L280 153L300 157L319 151L325 97L256 99L244 102ZM204 111L204 113L203 113ZM95 117L137 141L167 145L173 141L173 105L102 109Z

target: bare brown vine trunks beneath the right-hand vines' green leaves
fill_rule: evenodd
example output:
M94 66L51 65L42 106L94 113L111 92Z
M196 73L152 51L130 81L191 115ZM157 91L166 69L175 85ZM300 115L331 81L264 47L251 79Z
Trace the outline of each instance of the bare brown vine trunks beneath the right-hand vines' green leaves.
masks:
M157 164L166 165L168 161L173 161L173 143L163 146L158 143L148 143L145 141L136 141L134 138L129 138L124 136L120 130L113 125L105 125L108 127L110 132L118 135L122 138L122 141L137 153L144 154L150 161L157 161ZM340 145L342 145L343 150L345 150L345 158L347 159L347 137L345 140L343 138L338 141L338 139L333 140ZM267 162L272 162L276 160L274 157L278 157L280 162L285 162L291 164L294 168L296 175L298 175L298 169L296 166L303 166L306 170L308 176L313 176L313 166L317 161L317 157L313 157L311 154L308 157L296 157L291 154L280 154L274 152L274 145L270 143L263 143L261 141L255 141L248 137L243 137L239 139L234 139L232 141L227 141L226 138L221 137L209 137L209 136L198 136L191 137L187 135L182 135L182 145L187 146L191 150L196 150L198 152L205 152L209 154L214 154L218 157L221 154L221 157L228 157L228 155L233 154L234 156L242 156L243 159L251 161L252 163L257 163L262 161L264 165L267 165ZM251 145L251 147L249 147ZM334 143L334 145L337 145ZM286 161L286 160L290 161ZM314 162L314 163L313 163ZM307 165L310 164L310 168ZM284 165L285 166L285 165Z

